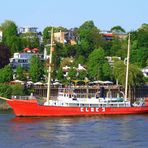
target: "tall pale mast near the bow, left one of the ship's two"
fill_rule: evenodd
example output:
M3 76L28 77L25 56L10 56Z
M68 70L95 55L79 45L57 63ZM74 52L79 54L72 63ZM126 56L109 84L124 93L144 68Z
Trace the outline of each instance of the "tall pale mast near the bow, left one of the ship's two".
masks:
M49 67L48 67L47 105L49 105L49 99L50 99L52 52L53 52L53 28L51 29L50 58L49 58Z

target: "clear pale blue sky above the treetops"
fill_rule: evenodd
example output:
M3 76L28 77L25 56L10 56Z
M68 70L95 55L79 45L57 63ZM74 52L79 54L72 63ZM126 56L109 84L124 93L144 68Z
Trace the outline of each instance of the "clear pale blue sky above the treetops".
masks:
M120 25L127 32L148 23L148 0L0 0L0 24L18 27L63 26L68 29L93 20L100 30Z

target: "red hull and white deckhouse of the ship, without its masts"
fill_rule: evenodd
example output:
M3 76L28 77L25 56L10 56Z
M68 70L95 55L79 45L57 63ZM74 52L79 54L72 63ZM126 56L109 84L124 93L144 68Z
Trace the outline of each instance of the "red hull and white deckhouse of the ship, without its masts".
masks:
M72 96L72 95L71 95ZM7 99L16 116L90 116L148 113L148 99L134 103L104 98L67 98L40 105L37 100Z

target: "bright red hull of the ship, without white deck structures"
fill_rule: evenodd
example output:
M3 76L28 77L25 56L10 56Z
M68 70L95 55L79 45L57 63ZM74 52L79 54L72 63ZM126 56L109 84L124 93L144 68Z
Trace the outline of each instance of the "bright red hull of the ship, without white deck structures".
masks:
M92 116L148 113L148 106L141 107L66 107L39 105L36 100L7 100L16 116Z

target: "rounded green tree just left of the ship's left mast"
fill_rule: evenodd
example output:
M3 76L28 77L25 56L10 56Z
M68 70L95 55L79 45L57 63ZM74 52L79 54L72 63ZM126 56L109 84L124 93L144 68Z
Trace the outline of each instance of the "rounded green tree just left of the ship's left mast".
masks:
M33 82L42 80L44 74L44 68L41 60L37 56L32 56L30 59L29 74Z

